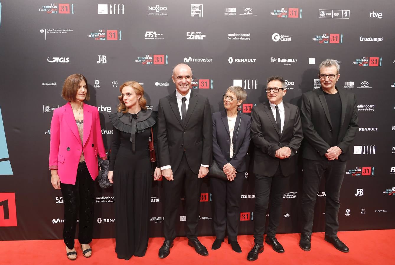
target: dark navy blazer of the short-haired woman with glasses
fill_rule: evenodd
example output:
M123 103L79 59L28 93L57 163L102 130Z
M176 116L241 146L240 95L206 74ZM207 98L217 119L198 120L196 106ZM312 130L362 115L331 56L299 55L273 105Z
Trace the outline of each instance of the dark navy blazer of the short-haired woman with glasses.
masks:
M237 113L232 135L233 157L230 158L230 134L226 110L213 113L213 158L217 161L220 169L226 163L230 163L237 172L247 170L245 155L251 141L250 128L251 117L240 112Z

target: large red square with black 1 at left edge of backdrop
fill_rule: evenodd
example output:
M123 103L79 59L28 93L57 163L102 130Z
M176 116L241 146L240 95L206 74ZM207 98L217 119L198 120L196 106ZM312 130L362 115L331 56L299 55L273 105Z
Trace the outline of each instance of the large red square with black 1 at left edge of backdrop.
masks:
M0 227L17 226L15 193L0 193Z

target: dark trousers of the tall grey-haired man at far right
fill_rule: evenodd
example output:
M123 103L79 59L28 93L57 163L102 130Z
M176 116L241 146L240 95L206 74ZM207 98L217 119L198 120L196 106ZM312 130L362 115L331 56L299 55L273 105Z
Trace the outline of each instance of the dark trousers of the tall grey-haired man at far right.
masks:
M339 230L337 215L340 208L340 188L345 171L345 161L303 159L302 233L309 235L312 233L314 205L316 204L321 178L325 176L325 234L330 237L337 235Z

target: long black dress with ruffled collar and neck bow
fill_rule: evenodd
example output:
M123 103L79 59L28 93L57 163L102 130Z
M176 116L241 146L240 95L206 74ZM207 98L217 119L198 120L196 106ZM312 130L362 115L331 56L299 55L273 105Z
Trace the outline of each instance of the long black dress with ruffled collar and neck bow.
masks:
M142 257L147 250L153 172L148 141L157 116L156 111L144 109L137 114L109 115L113 124L109 170L114 171L115 252L120 259Z

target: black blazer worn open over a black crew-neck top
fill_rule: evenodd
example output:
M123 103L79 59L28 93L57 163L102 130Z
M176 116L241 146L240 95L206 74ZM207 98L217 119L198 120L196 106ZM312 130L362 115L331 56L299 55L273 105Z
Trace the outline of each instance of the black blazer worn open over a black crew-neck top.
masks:
M336 87L342 102L342 117L337 146L342 150L340 161L350 159L350 145L358 130L357 100L354 93ZM326 160L325 153L331 146L332 124L322 88L302 95L302 125L305 141L303 158Z

